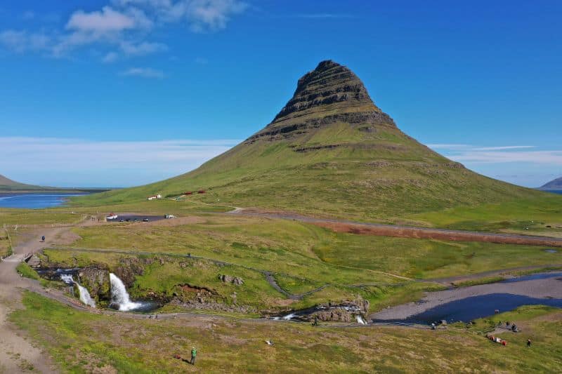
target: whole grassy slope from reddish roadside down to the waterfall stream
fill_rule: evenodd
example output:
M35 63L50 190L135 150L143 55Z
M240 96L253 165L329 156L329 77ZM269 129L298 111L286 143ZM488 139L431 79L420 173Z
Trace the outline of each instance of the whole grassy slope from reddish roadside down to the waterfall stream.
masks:
M114 272L129 266L123 260L127 257L157 259L143 265L143 274L136 276L130 290L134 297L155 293L181 299L187 296L183 286L189 285L209 288L218 302L255 312L359 297L377 311L443 288L410 279L562 264L562 253L547 253L543 247L361 236L290 220L233 215L187 220L79 227L73 229L77 241L67 248L47 249L44 255L51 265L103 264ZM188 259L188 254L200 258ZM271 272L288 293L324 288L302 300L290 300L268 284L263 272ZM218 280L221 274L240 276L245 283L223 283Z

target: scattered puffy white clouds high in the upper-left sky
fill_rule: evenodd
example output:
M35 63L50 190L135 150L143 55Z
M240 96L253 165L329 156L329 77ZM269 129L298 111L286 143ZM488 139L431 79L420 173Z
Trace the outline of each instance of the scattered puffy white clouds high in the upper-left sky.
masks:
M98 10L77 9L64 29L0 30L0 46L17 53L42 52L53 57L101 46L110 56L102 61L110 62L120 56L167 51L164 44L148 40L159 27L182 23L192 32L216 32L246 9L247 4L240 0L112 0ZM22 18L31 22L37 14L28 11Z

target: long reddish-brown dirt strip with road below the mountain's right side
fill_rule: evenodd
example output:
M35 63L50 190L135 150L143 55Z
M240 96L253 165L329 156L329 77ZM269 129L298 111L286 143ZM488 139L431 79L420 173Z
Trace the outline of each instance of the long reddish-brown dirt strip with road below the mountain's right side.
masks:
M311 223L320 227L332 229L335 232L348 232L351 234L393 236L412 239L439 239L447 241L483 241L500 244L523 244L528 246L562 247L562 239L548 236L529 236L517 234L496 234L488 232L473 232L450 229L431 229L429 227L411 227L399 225L382 225L379 223L353 222L346 220L329 220L322 218L306 217L304 215L268 212L257 209L236 208L228 214L249 215L254 217L281 218Z

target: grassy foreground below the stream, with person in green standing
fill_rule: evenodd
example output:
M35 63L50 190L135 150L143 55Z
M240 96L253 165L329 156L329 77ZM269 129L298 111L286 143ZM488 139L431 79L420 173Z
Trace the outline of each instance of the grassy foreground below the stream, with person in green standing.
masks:
M554 373L562 365L562 314L540 307L497 316L524 329L506 333L509 344L502 347L474 333L476 328L334 328L209 317L138 320L77 312L34 293L25 293L23 301L25 309L13 312L11 321L67 373ZM273 346L266 345L269 339ZM175 354L188 358L194 346L195 367L174 359Z

